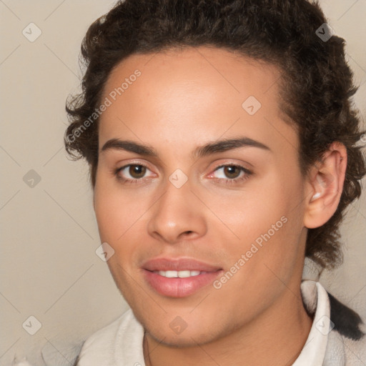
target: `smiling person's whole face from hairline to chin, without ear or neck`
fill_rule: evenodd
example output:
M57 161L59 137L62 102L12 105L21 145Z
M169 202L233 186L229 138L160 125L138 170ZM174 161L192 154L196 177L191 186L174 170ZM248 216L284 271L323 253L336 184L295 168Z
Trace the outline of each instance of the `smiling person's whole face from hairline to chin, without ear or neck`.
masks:
M300 287L305 183L279 76L199 47L130 56L105 85L100 237L134 315L166 344L217 340Z

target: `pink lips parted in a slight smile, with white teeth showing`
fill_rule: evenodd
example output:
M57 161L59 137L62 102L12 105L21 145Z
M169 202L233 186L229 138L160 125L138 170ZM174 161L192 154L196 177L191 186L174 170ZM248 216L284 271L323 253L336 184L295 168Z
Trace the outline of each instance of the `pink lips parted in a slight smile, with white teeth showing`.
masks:
M222 269L196 259L150 259L142 265L152 290L167 297L187 297L212 283Z

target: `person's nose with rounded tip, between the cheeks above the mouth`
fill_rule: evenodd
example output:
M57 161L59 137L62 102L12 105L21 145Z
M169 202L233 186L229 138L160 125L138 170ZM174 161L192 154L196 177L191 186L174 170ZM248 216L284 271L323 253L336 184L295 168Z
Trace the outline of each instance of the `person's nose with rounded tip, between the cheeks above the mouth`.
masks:
M148 232L159 241L174 244L182 239L197 239L207 232L204 205L186 182L174 187L169 181L164 194L150 210Z

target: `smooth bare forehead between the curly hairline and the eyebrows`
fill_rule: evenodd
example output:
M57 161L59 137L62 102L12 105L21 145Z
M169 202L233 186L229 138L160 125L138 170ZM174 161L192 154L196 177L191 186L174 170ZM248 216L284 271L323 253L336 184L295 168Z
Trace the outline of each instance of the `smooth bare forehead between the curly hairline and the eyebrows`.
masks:
M279 79L272 64L207 46L134 54L104 86L102 100L111 105L99 119L99 146L126 136L175 147L243 132L273 139L276 129L289 129L280 116Z

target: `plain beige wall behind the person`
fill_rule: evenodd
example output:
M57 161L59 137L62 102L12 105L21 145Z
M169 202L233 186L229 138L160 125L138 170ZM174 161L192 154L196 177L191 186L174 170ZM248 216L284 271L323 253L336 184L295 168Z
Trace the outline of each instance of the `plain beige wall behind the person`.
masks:
M81 77L81 39L112 4L0 0L0 365L11 365L14 355L44 365L42 348L45 357L59 360L53 365L70 365L74 345L127 309L107 264L95 254L100 242L86 166L70 162L62 142L64 102L78 90ZM321 4L333 29L348 41L347 59L360 85L355 102L365 117L366 1ZM22 34L31 22L41 29L34 42ZM31 169L41 178L34 187L23 180ZM345 264L321 279L363 317L365 197L353 205L342 227ZM41 322L35 335L22 327L29 316ZM28 330L36 326L34 320L25 324Z

